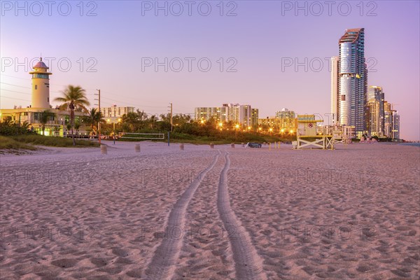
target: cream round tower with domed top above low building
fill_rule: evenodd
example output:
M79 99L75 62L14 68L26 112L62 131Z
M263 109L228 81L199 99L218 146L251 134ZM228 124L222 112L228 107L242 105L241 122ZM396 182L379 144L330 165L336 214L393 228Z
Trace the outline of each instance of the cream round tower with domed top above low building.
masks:
M34 71L29 72L32 75L32 108L50 109L50 75L48 66L39 62L33 67Z

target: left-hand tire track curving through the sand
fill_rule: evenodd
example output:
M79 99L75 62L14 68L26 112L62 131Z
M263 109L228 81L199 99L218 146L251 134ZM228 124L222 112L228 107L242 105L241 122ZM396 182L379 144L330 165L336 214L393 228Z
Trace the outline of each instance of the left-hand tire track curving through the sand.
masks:
M184 193L179 197L179 200L176 201L172 207L171 212L169 213L169 218L167 220L167 228L169 232L171 229L179 230L184 228L186 220L186 210L188 204L190 204L191 199L193 198L195 191L200 186L204 176L216 165L216 162L219 158L221 152L219 151L213 158L213 161L201 172L199 178L195 178L193 183L190 183L190 186L184 191ZM181 252L183 238L166 238L162 239L162 242L156 249L151 262L146 269L143 279L171 279L174 274L174 264L179 258L179 253Z

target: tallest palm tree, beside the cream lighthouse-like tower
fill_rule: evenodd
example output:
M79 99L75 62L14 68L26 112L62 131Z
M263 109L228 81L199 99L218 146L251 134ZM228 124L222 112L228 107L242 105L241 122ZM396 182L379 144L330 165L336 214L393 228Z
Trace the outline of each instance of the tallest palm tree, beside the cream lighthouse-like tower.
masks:
M76 146L76 141L73 135L74 126L74 110L87 111L86 106L89 106L87 101L86 92L80 86L68 85L65 90L62 91L63 97L57 97L54 99L55 102L63 102L60 106L61 109L70 109L70 126L71 126L71 138L73 139L73 146Z

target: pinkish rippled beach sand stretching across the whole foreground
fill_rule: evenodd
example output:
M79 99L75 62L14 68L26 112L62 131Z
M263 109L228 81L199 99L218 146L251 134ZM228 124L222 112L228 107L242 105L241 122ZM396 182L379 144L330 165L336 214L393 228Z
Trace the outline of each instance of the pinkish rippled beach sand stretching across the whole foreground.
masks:
M420 149L1 155L1 279L419 279Z

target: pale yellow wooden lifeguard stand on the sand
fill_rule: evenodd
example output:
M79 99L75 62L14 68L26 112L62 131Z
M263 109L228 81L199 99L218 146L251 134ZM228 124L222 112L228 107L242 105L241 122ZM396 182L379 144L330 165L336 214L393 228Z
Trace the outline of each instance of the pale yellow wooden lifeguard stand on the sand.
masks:
M325 134L325 130L322 130L321 134L316 133L316 123L322 122L323 120L315 120L315 115L297 115L297 139L293 141L293 149L334 149L334 141L331 134Z

